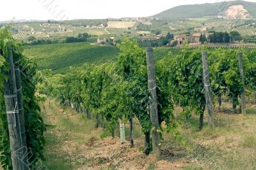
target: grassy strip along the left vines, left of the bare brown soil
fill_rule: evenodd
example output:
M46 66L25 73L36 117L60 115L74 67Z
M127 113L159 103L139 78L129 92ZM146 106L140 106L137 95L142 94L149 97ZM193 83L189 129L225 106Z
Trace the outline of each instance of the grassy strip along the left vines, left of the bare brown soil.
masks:
M101 131L95 129L91 120L74 110L61 110L58 104L45 104L42 117L47 124L44 164L48 169L76 169L87 164L81 155L81 146L92 137L99 139Z

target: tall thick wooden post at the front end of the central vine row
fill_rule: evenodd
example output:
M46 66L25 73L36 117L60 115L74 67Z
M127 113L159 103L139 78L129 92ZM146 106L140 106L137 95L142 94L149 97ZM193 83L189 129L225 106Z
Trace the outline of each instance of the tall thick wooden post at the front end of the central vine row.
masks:
M150 93L150 121L154 125L152 130L152 146L154 161L161 157L160 150L160 135L159 135L159 121L157 112L157 97L156 97L156 70L154 65L154 53L152 48L146 48L147 59L147 73L148 73L148 92Z

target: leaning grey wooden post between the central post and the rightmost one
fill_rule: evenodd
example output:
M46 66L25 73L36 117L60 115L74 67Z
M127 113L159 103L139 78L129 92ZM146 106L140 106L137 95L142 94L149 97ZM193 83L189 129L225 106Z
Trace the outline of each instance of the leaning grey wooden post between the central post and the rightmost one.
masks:
M212 108L211 86L210 86L210 73L208 66L207 52L202 52L202 62L204 71L204 90L205 90L205 103L208 112L208 124L210 127L214 127L214 113Z

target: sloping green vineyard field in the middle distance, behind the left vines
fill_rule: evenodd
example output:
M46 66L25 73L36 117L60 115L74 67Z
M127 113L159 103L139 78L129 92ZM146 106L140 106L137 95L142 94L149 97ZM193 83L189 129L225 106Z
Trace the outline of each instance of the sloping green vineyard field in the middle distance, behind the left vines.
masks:
M52 69L53 73L65 73L70 66L108 62L114 59L118 52L119 50L114 46L61 43L24 46L23 54L35 60L38 69Z

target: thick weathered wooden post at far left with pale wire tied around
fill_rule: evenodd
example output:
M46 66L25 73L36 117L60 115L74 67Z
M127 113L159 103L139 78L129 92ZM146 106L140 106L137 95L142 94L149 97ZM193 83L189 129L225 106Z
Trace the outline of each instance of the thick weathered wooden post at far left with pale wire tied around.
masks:
M19 104L17 99L17 86L15 81L12 48L8 50L7 62L10 64L10 70L4 72L8 80L3 80L3 84L10 137L12 168L25 169L24 162L22 161L22 139L20 138L20 135L24 134L22 134L20 129Z

